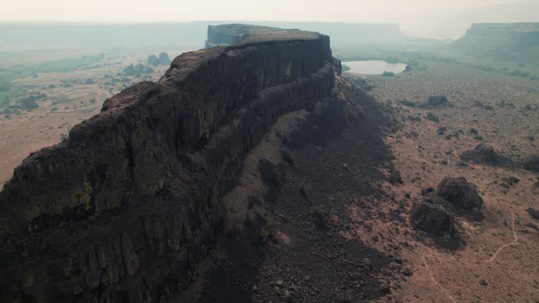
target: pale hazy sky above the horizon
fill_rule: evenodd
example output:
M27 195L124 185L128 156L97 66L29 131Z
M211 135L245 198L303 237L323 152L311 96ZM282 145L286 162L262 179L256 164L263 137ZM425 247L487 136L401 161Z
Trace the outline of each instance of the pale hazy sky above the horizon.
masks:
M536 0L20 0L0 22L187 22L198 20L399 23L406 34L457 38L473 22L539 22Z

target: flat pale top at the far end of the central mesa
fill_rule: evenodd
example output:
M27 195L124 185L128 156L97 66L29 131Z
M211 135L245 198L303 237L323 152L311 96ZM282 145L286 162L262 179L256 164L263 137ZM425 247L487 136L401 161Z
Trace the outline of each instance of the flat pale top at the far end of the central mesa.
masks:
M237 43L239 44L274 40L320 39L324 36L317 32L305 32L300 29L280 29L242 24L210 25L209 32L238 36Z

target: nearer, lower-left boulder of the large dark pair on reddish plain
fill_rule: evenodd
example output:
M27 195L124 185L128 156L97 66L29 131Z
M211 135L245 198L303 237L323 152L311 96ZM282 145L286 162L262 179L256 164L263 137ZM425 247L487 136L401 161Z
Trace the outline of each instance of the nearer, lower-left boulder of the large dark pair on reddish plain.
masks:
M410 223L414 229L426 231L433 236L451 234L454 217L442 206L430 203L416 204L410 213Z

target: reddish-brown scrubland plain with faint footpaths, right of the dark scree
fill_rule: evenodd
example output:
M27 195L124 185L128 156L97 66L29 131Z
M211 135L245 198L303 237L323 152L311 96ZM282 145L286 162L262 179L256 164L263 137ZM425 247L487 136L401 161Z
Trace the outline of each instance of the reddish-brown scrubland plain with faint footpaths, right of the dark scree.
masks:
M538 208L537 173L463 163L459 155L486 143L512 159L538 156L539 86L441 62L427 65L425 71L395 77L363 76L379 102L397 109L401 125L386 142L403 184L387 184L392 201L380 204L408 213L424 200L425 189L435 189L444 177L465 177L484 200L484 220L457 216L465 245L453 251L438 248L421 232L408 232L409 221L405 233L377 219L368 223L370 230L357 232L373 236L375 241L367 241L382 251L399 243L411 276L394 285L392 297L398 302L538 302L539 221L526 211ZM451 106L425 109L402 102L425 102L430 95L446 95ZM429 113L439 122L427 119ZM511 184L508 177L518 181Z

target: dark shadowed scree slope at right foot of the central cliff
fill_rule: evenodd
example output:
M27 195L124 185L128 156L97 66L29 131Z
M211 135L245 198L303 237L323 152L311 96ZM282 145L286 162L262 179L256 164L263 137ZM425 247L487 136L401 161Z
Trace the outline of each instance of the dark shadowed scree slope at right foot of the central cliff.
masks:
M253 193L247 210L253 215L218 241L191 299L359 302L390 293L398 257L343 234L352 220L350 208L368 208L358 198L385 197L382 168L392 157L382 131L389 119L374 100L340 78L335 97L324 103L279 120L270 130L270 138L261 143L265 152L287 150L284 156L268 160L256 149L251 154L273 165L258 166L254 176L265 191L256 194L245 186ZM275 177L279 175L284 178Z

